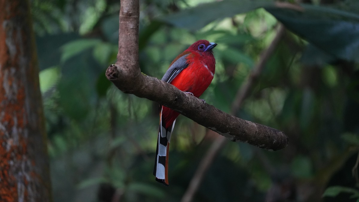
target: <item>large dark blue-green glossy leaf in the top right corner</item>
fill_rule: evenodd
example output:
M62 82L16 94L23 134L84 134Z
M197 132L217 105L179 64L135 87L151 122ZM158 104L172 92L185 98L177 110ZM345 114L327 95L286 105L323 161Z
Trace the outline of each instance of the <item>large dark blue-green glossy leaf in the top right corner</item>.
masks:
M303 11L267 7L286 28L334 57L359 61L359 15L301 4Z

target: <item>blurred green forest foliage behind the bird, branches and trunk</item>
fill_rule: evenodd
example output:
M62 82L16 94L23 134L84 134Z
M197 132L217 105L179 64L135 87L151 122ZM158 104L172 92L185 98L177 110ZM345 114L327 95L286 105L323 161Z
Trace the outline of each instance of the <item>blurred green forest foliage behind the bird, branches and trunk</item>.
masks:
M226 140L193 201L359 201L359 2L291 3L140 0L143 73L162 78L193 42L216 42L201 98L289 137L275 152ZM178 117L170 185L155 182L158 104L104 74L116 61L120 1L31 0L31 9L55 202L180 201L216 136Z

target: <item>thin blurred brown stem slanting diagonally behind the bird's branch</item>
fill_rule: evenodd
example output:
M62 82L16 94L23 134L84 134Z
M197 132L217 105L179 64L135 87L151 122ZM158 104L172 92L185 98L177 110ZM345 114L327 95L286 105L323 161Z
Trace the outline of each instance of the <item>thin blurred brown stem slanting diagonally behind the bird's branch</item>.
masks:
M232 104L231 114L236 114L239 110L239 107L243 104L244 99L249 95L249 91L252 88L253 84L257 81L258 77L260 76L262 70L264 69L265 64L267 63L268 59L274 52L276 46L278 45L280 39L284 34L285 28L283 25L279 24L277 34L273 39L270 46L261 54L260 60L255 66L254 70L252 71L251 75L248 77L248 82L242 86L241 89L237 91L236 98ZM206 152L206 155L201 160L196 173L191 179L188 188L183 195L181 202L191 202L195 193L197 192L199 185L201 184L203 177L205 176L206 171L208 170L209 166L213 163L217 153L222 149L222 147L227 143L226 139L223 136L218 136L213 143L211 144L210 148Z

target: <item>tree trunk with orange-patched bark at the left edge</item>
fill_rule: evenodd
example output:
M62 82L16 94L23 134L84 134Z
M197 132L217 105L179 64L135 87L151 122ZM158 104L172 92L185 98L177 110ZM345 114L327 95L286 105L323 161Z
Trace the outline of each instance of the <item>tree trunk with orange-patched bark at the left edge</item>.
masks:
M51 201L29 3L0 0L0 8L0 201Z

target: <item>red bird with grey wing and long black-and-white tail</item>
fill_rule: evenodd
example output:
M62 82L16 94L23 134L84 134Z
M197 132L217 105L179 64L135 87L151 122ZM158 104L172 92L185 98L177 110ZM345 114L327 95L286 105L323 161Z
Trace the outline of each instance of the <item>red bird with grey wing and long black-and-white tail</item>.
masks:
M185 93L200 97L213 80L215 71L213 48L216 45L207 40L196 41L172 61L161 80ZM169 185L169 142L178 115L180 113L177 111L159 105L160 124L153 175L157 182L166 186Z

